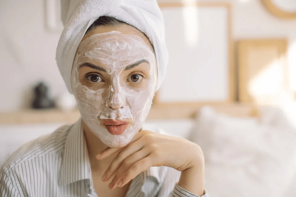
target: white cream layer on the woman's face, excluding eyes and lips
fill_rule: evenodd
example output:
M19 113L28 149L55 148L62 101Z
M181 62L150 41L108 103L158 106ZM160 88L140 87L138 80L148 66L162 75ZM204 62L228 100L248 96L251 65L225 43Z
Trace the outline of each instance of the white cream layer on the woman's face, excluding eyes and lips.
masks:
M135 88L126 82L122 83L120 74L125 67L142 59L150 64L148 87ZM82 85L79 82L79 66L85 62L105 65L110 75L110 84L95 91ZM155 55L137 35L117 31L99 33L88 37L79 45L72 67L71 88L83 121L109 147L127 145L142 128L152 104L156 82ZM123 108L114 110L108 104ZM121 135L112 135L99 121L125 118L131 118L133 122Z

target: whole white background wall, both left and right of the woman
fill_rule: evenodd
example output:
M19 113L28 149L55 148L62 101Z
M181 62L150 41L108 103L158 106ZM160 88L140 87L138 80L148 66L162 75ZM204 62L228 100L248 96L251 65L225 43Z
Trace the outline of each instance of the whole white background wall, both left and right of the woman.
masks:
M186 0L190 1L190 0ZM44 25L44 1L0 1L0 111L18 110L28 101L30 88L39 80L50 83L51 96L66 91L55 61L59 32ZM159 0L159 2L172 2ZM175 1L176 2L176 1ZM202 2L210 2L203 0ZM214 0L217 2L217 0ZM225 2L221 1L220 2ZM269 14L260 0L228 0L233 7L233 36L287 37L290 74L296 75L296 20ZM293 68L293 69L292 69ZM295 77L294 77L295 78ZM296 90L296 79L293 89Z

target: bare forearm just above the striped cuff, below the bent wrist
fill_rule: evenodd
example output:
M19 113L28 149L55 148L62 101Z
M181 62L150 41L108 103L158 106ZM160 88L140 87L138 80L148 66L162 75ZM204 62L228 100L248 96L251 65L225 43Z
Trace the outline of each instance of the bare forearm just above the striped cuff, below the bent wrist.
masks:
M195 195L204 195L204 161L182 171L178 185Z

